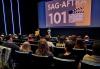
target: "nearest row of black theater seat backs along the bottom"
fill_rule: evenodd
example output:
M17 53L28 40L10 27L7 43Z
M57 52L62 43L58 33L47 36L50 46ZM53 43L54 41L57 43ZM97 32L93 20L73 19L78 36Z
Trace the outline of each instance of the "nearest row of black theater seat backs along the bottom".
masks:
M77 69L75 60L38 56L15 51L13 69ZM81 62L81 69L100 69L100 65Z

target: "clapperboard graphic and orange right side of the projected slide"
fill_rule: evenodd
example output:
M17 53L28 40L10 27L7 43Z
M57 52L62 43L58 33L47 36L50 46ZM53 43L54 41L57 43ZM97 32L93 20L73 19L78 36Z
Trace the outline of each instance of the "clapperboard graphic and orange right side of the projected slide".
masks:
M69 23L76 26L91 25L91 0L75 0L75 9L69 11Z

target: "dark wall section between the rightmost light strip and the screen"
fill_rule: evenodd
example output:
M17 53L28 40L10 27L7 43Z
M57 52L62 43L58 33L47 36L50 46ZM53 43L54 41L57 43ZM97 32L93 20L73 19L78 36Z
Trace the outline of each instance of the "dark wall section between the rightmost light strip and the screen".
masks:
M37 0L20 0L23 34L32 33L38 27Z

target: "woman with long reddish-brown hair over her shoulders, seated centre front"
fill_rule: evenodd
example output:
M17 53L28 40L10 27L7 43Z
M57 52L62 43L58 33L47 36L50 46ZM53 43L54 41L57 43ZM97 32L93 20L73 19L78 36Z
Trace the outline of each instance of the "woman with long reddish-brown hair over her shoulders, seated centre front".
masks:
M35 52L36 55L40 56L53 56L52 52L47 45L47 41L45 38L41 38L39 41L39 47Z

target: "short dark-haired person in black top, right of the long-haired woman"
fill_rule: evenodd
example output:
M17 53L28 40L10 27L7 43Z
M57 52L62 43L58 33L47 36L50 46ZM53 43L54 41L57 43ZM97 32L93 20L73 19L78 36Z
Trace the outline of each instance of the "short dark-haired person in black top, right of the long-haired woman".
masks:
M65 53L60 54L58 57L60 58L64 58L64 59L74 59L74 56L72 54L73 51L73 44L71 44L70 42L66 42L65 44Z

